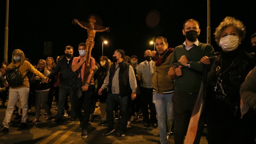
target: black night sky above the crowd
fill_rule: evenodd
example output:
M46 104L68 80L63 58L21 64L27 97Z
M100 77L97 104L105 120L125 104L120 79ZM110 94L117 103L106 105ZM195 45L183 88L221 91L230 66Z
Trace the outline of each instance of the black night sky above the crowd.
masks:
M0 52L4 60L5 0L0 1ZM220 47L213 38L215 28L226 16L234 16L246 26L246 37L242 45L250 52L250 36L256 32L255 0L212 0L211 1L211 44L215 51ZM88 22L90 15L97 18L96 24L109 27L110 32L96 33L92 55L96 61L102 54L110 60L115 49L123 49L128 56L137 55L144 61L143 52L154 49L149 41L165 36L169 47L185 41L182 34L184 21L195 19L200 22L199 41L206 43L207 0L10 0L8 62L14 49L21 49L37 63L45 59L44 42L52 42L52 57L64 55L67 45L74 47L78 56L78 44L85 42L87 31L72 24L73 19Z

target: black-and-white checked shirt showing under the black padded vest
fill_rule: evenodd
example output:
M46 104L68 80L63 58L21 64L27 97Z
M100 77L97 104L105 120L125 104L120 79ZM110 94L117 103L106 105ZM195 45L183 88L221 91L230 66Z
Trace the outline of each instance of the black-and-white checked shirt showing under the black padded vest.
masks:
M118 67L118 65L116 65L116 68ZM119 94L119 67L116 69L116 72L113 76L113 80L112 80L112 88L111 91L113 94ZM137 88L137 82L136 82L136 77L134 75L134 71L132 66L129 66L129 82L130 82L130 87L132 89L132 92L136 92L136 88ZM109 70L108 70L108 75L104 80L104 83L102 84L101 88L105 89L108 87L108 83L109 83Z

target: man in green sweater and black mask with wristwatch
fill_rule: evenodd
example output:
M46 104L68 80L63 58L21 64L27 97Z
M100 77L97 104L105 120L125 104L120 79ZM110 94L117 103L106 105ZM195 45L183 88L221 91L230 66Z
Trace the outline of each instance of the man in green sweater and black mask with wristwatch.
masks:
M200 34L198 21L193 19L185 21L182 33L186 41L174 49L168 72L168 77L175 80L175 92L172 96L175 144L183 144L199 93L203 71L200 59L204 56L216 56L212 45L198 42L197 38ZM200 142L200 135L195 142Z

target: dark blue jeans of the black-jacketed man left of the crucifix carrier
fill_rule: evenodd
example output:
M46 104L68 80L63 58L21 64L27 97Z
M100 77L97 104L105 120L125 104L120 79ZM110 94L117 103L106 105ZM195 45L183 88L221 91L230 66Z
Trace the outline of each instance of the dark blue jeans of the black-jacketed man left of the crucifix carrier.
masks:
M75 112L72 108L73 86L60 85L59 86L58 113L57 113L56 117L60 117L60 118L63 117L63 108L64 108L67 93L69 94L70 102L71 102L70 115L71 116L75 115Z

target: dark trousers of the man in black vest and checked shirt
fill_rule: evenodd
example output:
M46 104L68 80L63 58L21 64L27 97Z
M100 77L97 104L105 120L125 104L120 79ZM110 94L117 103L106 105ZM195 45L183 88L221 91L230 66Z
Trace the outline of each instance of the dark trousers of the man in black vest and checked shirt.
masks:
M127 113L127 104L128 104L128 96L120 97L119 94L111 94L108 93L108 98L106 100L107 107L107 118L108 118L108 128L114 129L114 116L113 110L115 108L116 103L119 105L120 114L121 114L121 124L120 124L120 132L126 132L128 113Z

